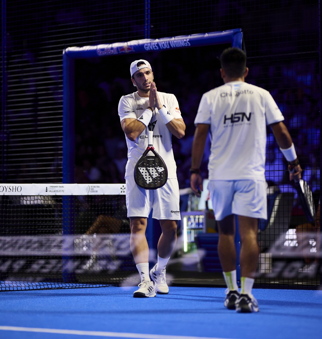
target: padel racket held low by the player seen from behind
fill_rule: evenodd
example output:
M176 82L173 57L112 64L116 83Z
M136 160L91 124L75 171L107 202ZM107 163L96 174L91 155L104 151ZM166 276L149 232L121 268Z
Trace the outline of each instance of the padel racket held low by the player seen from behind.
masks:
M292 165L290 165L290 171L293 171ZM295 188L298 192L298 197L300 200L300 204L302 206L303 212L307 221L314 222L315 221L315 205L313 200L312 191L308 183L300 179L299 181L294 180Z

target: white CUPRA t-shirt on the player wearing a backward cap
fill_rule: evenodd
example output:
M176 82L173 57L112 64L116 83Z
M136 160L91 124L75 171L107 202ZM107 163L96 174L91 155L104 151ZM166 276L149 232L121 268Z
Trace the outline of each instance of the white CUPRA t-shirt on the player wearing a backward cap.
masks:
M165 105L168 112L175 118L181 117L179 104L173 94L158 92L160 101ZM139 118L149 105L149 98L142 98L138 92L123 96L119 102L120 120L126 118ZM177 178L177 166L172 152L171 132L163 122L158 108L155 109L152 117L153 147L165 162L168 169L168 178ZM134 167L148 146L148 127L135 140L131 141L125 136L127 143L128 161L125 169L125 177L134 176Z

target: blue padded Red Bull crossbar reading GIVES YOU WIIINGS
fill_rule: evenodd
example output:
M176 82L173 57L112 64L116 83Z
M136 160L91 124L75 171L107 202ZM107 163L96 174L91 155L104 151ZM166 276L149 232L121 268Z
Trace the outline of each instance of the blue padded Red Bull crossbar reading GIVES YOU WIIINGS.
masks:
M182 35L161 39L141 39L97 46L68 47L64 53L72 58L89 58L149 51L166 51L175 48L197 47L205 45L231 43L241 47L240 28L205 34Z

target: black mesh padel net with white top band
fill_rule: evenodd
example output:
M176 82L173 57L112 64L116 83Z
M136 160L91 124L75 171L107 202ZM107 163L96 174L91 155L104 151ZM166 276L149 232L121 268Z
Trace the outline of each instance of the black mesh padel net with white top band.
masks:
M124 184L0 185L1 291L119 285L136 270Z

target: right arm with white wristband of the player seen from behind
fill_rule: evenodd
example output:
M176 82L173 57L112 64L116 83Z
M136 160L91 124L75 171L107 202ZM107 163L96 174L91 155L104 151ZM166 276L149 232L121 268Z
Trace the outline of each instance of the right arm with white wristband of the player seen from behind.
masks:
M293 173L290 172L290 180L300 180L302 168L299 164L299 160L294 149L294 144L287 127L282 121L273 123L270 125L270 127L272 128L276 142L280 146L283 155L290 165L289 169L293 170Z

